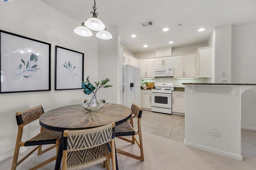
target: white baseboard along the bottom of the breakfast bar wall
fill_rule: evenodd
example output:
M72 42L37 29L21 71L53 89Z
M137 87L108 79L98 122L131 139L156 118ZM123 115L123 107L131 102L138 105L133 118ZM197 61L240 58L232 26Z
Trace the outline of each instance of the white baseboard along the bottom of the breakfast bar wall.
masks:
M205 150L205 151L208 151L208 152L212 152L212 153L215 153L215 154L220 154L222 156L226 156L226 157L233 158L233 159L236 159L236 160L241 160L241 161L243 160L243 156L241 154L234 154L234 153L231 153L231 152L226 152L224 150L214 149L214 148L206 147L206 146L203 146L203 145L198 145L198 144L195 144L195 143L189 143L189 142L186 142L185 139L184 139L184 145L189 146L189 147L194 147L194 148L197 148L197 149L201 149L201 150Z

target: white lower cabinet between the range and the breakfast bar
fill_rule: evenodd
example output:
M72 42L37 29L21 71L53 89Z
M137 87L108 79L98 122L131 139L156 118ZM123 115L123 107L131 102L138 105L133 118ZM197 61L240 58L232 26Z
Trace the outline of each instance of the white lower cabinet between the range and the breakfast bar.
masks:
M172 91L172 114L185 115L185 92Z

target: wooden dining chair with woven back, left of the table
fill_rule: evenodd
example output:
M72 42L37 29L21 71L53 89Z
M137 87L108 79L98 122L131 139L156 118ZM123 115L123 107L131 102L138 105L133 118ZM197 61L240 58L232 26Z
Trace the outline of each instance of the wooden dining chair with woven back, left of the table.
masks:
M12 170L15 170L16 167L21 162L23 162L26 158L28 158L28 156L30 156L37 149L38 149L38 155L43 154L44 152L47 152L48 150L51 150L55 147L57 150L56 153L58 153L59 141L60 141L60 138L62 135L61 132L50 131L50 130L47 130L47 129L44 129L41 127L41 131L38 135L36 135L32 139L29 139L26 142L21 141L23 127L25 125L27 125L28 123L38 119L40 117L40 115L42 115L43 113L44 113L44 109L41 105L16 113L16 121L17 121L17 125L18 125L18 135L17 135L16 145L15 145L15 150L14 150L14 156L13 156L13 160L12 160ZM48 149L42 150L42 145L48 145L48 144L55 144L55 145L53 145L52 147L49 147ZM18 154L19 154L20 147L28 147L28 146L37 146L37 147L34 148L31 152L29 152L26 156L24 156L18 162ZM31 170L38 169L38 168L48 164L49 162L52 162L55 159L56 159L56 156L53 156L52 158L34 166L33 168L31 168Z

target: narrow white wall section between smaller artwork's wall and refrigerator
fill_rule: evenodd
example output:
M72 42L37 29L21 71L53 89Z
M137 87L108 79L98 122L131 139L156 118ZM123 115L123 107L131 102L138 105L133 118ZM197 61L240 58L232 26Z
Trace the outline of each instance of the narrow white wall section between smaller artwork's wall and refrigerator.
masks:
M119 97L119 60L120 60L120 33L117 27L108 27L113 38L98 40L98 80L109 78L113 87L101 88L98 98L105 99L108 103L118 103ZM110 95L111 94L111 95Z

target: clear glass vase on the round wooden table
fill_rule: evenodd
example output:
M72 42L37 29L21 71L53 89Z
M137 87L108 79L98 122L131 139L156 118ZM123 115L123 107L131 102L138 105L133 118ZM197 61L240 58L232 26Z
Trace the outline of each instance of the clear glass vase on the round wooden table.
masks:
M83 104L83 107L86 109L86 110L89 110L89 111L98 111L100 110L105 104L103 102L101 102L100 100L98 100L96 98L96 95L95 94L92 94L91 95L91 99L88 100L87 102L85 102Z

